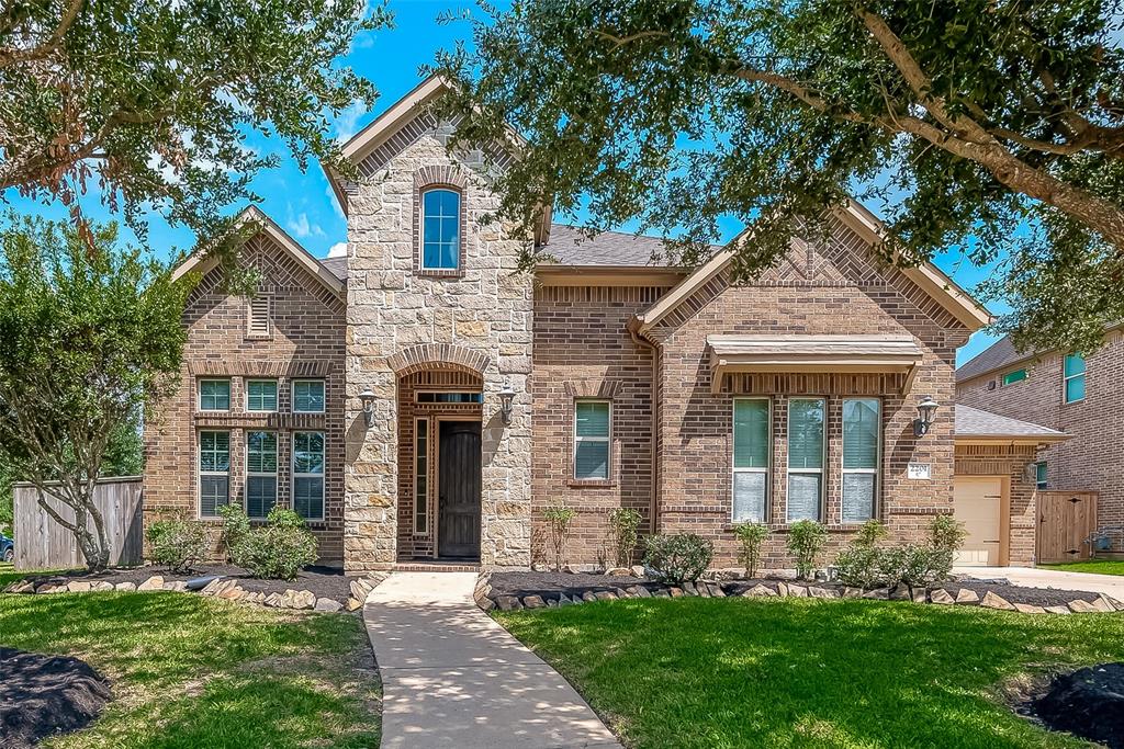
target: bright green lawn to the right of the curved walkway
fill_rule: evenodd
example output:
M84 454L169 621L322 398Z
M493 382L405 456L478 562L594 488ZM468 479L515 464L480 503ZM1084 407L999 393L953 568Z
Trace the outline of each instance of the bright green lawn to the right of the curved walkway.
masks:
M1088 747L1007 695L1124 659L1114 614L637 599L496 615L636 749Z

